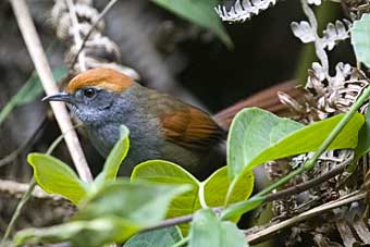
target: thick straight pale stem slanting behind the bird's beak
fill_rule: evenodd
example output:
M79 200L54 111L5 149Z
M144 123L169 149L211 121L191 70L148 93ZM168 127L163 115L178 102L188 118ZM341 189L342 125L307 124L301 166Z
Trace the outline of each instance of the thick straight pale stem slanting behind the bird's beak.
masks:
M10 2L45 91L47 95L57 94L58 87L26 2L24 0L11 0ZM62 102L50 102L50 104L62 133L72 129L71 119L65 109L65 104ZM69 134L65 135L64 139L81 178L85 182L92 181L90 170L87 165L76 133L74 131L70 131Z

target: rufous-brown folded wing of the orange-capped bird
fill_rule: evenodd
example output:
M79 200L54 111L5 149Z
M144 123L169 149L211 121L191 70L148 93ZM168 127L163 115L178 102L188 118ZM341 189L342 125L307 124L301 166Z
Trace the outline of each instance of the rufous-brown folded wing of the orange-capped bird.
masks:
M188 104L160 121L169 140L193 150L207 150L225 135L209 114Z

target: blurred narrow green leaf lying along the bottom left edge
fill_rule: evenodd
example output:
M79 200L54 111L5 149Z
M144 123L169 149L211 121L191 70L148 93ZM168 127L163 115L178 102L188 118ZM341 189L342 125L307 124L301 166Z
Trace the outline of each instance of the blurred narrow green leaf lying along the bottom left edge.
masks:
M133 222L118 217L98 218L91 221L74 221L42 229L26 229L14 236L16 246L25 244L52 244L69 242L73 247L101 247L122 243L140 229Z

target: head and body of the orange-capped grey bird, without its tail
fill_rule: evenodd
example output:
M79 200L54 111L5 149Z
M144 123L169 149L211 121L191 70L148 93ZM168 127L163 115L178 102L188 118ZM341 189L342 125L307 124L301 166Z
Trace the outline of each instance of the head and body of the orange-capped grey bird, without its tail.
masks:
M225 133L208 113L120 72L89 70L45 100L65 101L103 157L118 140L120 125L126 125L131 148L122 165L125 174L151 159L172 161L202 175L223 164L218 146Z

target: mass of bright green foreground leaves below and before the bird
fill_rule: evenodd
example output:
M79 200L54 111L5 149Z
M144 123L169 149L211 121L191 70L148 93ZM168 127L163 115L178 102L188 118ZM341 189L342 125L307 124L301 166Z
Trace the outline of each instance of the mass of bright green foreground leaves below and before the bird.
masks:
M342 118L337 115L304 126L260 109L245 109L237 114L231 127L227 166L219 169L203 182L181 166L163 160L138 164L131 182L115 180L130 146L125 127L122 127L122 137L108 157L102 172L90 184L81 182L62 161L32 153L28 161L38 184L46 192L70 199L79 210L69 223L21 231L14 243L69 240L73 246L88 243L91 247L122 243L141 230L160 224L165 217L194 213L190 229L180 225L184 234L189 231L189 246L210 240L210 234L214 233L219 237L211 239L213 246L247 246L235 223L224 220L237 221L240 214L263 202L263 197L246 200L254 187L252 168L267 160L317 149ZM362 123L362 115L357 113L330 148L355 148L357 132ZM254 141L249 143L250 139ZM242 209L239 203L244 205ZM219 218L207 209L209 207L225 207L225 211L232 213ZM99 227L102 230L98 231ZM125 246L143 242L150 246L149 243L156 243L157 239L163 239L163 245L187 240L173 229L166 229L135 235Z

